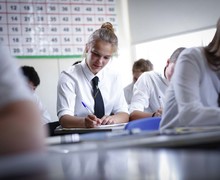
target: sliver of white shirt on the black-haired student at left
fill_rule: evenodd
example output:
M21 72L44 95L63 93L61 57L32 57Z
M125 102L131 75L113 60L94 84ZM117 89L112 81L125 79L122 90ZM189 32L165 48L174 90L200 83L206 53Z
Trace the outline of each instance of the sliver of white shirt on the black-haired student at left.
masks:
M42 104L39 96L34 92L33 93L33 100L36 103L38 109L40 110L42 124L47 124L52 122L49 112L47 111L46 107Z

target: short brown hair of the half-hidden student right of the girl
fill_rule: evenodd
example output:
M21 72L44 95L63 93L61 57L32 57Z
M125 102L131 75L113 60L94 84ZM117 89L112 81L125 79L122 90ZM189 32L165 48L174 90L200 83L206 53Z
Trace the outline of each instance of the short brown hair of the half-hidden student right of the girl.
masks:
M134 72L136 69L141 70L141 72L151 71L153 70L153 64L146 59L139 59L134 62L132 71Z

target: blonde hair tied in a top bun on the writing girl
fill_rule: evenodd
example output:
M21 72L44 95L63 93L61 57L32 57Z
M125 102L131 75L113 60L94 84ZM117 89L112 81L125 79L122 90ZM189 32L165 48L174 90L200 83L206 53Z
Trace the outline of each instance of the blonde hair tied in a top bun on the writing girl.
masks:
M89 36L87 45L94 45L99 40L110 43L114 49L114 52L117 53L118 38L115 35L113 25L110 22L103 23L101 28L95 30Z

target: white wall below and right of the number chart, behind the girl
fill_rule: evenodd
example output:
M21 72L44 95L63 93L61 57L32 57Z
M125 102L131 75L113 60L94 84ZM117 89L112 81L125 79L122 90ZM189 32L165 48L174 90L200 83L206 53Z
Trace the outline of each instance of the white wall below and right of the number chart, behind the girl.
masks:
M128 8L126 1L117 1L117 19L118 19L118 38L119 52L114 57L111 66L122 76L122 84L125 86L131 81L131 50L130 50L130 34L128 24ZM56 115L56 96L57 82L59 74L62 70L71 66L75 61L81 59L19 59L20 65L33 66L38 72L41 83L36 93L39 95L45 107L48 109L52 121L57 121Z

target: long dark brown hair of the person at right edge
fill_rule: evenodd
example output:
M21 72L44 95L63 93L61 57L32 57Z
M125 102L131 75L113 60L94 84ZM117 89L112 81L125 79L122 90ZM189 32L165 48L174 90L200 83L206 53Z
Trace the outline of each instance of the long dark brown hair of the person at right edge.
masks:
M204 53L208 64L214 71L220 70L220 19L217 22L217 29L212 41L204 47Z

